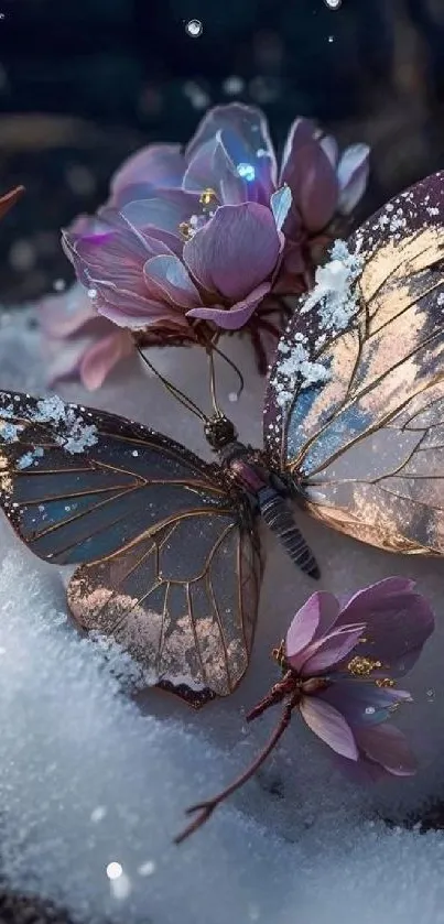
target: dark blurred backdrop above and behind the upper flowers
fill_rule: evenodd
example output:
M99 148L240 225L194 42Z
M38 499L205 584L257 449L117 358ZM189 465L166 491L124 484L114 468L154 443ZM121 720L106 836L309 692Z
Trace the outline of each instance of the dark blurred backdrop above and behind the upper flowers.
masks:
M444 166L444 0L3 0L0 11L0 188L28 191L0 230L2 300L69 279L61 226L106 198L127 153L185 142L215 102L262 106L279 145L297 115L370 142L359 217Z

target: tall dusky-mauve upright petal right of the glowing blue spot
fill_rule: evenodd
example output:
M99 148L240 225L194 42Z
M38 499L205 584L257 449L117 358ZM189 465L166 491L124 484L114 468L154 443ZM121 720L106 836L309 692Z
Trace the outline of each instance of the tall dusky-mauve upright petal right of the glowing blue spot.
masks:
M338 197L336 171L308 119L297 119L290 129L280 182L289 184L308 231L320 231L332 220Z

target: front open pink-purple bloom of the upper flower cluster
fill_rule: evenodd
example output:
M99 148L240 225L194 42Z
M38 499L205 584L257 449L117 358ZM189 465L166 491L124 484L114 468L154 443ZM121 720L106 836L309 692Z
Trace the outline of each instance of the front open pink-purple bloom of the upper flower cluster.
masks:
M218 205L209 195L163 191L162 198L107 207L107 229L66 231L64 246L80 282L94 290L98 313L136 330L191 319L226 330L242 327L271 291L290 208L286 187L270 206Z

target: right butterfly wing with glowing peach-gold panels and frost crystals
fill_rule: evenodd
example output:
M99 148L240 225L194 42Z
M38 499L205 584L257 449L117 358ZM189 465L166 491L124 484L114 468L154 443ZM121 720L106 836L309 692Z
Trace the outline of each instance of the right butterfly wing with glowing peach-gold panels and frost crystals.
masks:
M408 554L444 552L443 216L438 173L336 244L281 340L264 415L302 506Z

